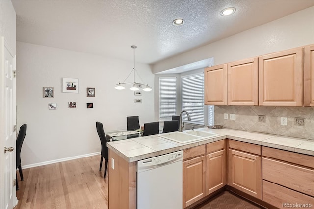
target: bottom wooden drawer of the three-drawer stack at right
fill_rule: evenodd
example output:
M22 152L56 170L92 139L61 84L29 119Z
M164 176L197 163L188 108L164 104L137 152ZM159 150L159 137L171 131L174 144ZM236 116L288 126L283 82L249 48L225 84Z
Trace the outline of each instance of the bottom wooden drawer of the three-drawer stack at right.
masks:
M314 206L314 198L308 195L293 191L286 187L263 180L263 201L277 208L289 208L288 204L311 204ZM293 208L308 208L306 206ZM311 207L310 207L311 208Z

